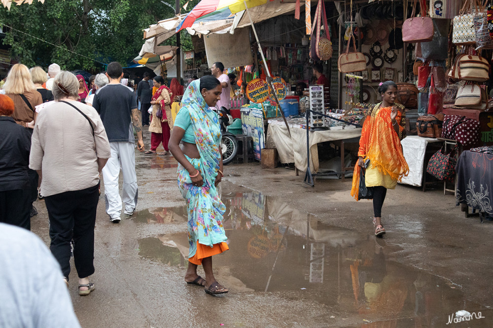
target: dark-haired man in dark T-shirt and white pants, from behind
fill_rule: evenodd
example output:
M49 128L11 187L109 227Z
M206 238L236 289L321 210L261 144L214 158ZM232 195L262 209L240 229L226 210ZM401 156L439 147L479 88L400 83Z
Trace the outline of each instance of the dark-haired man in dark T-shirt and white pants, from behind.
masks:
M123 173L123 203L125 214L132 215L137 206L137 174L135 173L135 138L138 149L144 150L142 123L137 99L132 89L120 84L123 68L119 63L109 63L106 69L109 83L98 89L93 107L100 113L111 147L111 158L103 168L105 182L106 213L110 221L121 221L122 198L119 193L118 176Z

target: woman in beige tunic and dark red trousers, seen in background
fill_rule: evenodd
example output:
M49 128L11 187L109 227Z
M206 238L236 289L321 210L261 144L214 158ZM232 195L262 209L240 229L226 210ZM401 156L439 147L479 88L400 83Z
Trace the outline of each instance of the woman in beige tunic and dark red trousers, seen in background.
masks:
M170 141L170 134L173 130L173 120L171 119L171 99L173 99L173 94L170 88L164 84L161 76L154 77L153 83L154 87L157 87L157 90L151 98L152 121L149 126L149 131L151 131L151 148L145 154L155 154L157 147L162 142L164 152L158 155L168 155L168 142ZM158 110L161 110L161 116L158 116Z

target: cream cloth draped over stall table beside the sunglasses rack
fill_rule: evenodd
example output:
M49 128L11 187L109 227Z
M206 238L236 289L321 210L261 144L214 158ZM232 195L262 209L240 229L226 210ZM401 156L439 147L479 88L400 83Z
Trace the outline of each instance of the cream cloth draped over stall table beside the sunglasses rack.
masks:
M279 119L271 119L268 121L269 128L267 129L267 147L276 148L279 158L282 163L293 163L297 169L306 171L307 163L307 131L304 125L299 123L299 119L288 119L291 138L284 125L284 122ZM345 130L325 130L325 131L310 131L310 169L313 173L318 171L318 148L317 143L324 141L345 140L361 136L361 129L345 129ZM341 152L344 149L344 144L341 146ZM344 153L341 154L344 159ZM344 167L343 167L344 169Z

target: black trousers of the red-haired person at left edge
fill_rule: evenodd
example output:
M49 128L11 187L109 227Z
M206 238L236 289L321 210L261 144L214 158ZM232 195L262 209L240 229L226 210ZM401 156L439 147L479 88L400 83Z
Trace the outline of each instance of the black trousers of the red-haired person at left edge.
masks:
M0 192L0 222L31 230L31 206L29 189Z

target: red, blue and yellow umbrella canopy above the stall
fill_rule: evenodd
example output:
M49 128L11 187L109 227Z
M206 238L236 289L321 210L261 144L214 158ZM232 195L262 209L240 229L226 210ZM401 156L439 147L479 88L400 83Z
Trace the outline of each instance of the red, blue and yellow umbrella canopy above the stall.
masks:
M273 0L270 0L273 1ZM214 19L220 14L221 18L232 17L237 12L245 10L245 2L248 8L267 3L267 0L202 0L200 1L176 27L179 32L187 27L192 27L196 19L206 19L207 15L214 14Z

